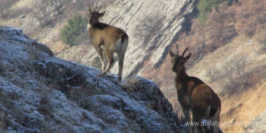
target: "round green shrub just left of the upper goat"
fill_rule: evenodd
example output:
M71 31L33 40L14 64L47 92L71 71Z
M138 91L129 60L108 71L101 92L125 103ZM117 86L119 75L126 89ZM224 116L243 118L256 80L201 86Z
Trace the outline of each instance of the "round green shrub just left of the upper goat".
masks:
M61 41L70 46L75 45L77 36L84 32L84 25L87 23L87 19L81 15L74 15L67 20L68 25L64 26L61 30Z

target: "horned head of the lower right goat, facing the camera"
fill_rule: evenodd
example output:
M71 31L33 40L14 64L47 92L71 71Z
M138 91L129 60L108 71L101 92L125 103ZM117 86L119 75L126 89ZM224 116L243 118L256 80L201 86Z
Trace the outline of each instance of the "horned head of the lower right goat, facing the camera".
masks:
M185 63L190 59L191 53L189 53L186 57L184 57L188 47L184 50L183 54L180 56L178 55L178 45L177 45L177 54L174 55L173 51L170 49L169 54L171 56L172 62L172 71L174 73L180 73L182 69L185 67Z

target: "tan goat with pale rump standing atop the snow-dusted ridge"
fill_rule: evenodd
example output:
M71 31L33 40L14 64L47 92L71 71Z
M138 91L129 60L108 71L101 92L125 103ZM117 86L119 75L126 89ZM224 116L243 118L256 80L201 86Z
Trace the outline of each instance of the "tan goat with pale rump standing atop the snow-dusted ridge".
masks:
M105 14L105 11L99 13L99 10L92 10L89 5L88 10L87 31L89 41L94 45L102 62L102 73L100 76L104 76L109 72L111 66L115 63L113 54L117 53L119 66L118 81L121 81L125 52L128 47L128 35L120 28L99 22L99 18ZM108 58L107 66L106 56Z

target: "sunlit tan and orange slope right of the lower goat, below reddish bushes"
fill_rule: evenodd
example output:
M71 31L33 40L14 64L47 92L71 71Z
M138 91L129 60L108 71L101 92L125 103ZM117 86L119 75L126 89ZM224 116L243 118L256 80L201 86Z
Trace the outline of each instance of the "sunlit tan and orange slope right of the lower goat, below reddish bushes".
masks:
M225 133L241 132L250 133L263 131L264 126L261 122L265 122L265 70L266 70L266 54L262 44L254 40L254 45L245 47L250 39L241 35L236 37L229 44L220 47L216 51L205 55L205 57L195 64L193 68L188 70L189 75L197 76L214 89L222 102L221 121L222 122L254 122L256 126L221 126ZM225 56L226 55L226 56ZM248 85L238 85L235 89L223 87L222 79L213 81L209 77L209 70L216 68L223 70L223 64L228 60L235 60L239 57L246 57L245 73L248 77ZM239 61L240 62L240 61ZM211 65L210 65L211 64ZM216 73L217 74L217 73ZM238 78L238 77L236 77ZM229 81L227 81L229 82ZM169 99L171 100L171 99ZM173 104L173 103L172 103ZM179 103L176 102L175 105ZM174 106L174 104L173 104ZM248 128L247 130L245 130ZM253 130L251 130L253 129Z

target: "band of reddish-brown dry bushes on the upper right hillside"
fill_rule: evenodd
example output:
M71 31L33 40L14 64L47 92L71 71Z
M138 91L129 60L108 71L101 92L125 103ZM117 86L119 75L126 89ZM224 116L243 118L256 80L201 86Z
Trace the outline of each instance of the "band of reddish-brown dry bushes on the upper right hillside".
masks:
M182 48L190 47L196 60L226 45L238 35L245 34L251 38L264 31L265 11L264 0L242 0L231 6L223 2L218 6L218 11L212 10L205 24L193 20L192 30L188 34L182 34L177 43L184 44Z

